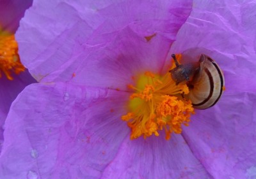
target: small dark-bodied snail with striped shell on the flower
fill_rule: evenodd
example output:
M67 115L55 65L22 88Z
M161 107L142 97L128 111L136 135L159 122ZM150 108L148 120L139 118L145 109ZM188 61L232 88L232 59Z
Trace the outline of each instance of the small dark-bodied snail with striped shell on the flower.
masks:
M218 64L205 54L200 55L196 63L179 64L172 54L175 68L170 70L173 80L178 85L186 81L189 94L184 96L191 100L194 108L206 109L220 99L225 80Z

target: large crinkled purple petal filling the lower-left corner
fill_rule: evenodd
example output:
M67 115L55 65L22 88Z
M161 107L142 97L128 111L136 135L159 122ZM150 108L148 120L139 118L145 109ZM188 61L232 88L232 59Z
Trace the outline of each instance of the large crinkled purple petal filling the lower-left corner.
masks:
M129 94L67 83L24 89L6 119L0 178L100 178L129 129Z

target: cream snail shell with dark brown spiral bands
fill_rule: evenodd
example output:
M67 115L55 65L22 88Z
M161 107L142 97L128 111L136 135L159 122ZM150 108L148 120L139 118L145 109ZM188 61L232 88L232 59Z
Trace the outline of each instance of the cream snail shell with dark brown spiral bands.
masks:
M200 69L188 82L188 99L195 108L206 109L220 99L225 85L223 72L218 64L207 55L200 56Z

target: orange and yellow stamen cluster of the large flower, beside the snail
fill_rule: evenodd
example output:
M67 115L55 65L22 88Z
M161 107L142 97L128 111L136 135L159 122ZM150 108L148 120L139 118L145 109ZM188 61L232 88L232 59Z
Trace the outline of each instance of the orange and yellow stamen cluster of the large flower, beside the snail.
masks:
M129 99L129 112L122 116L131 128L131 139L159 136L158 131L164 129L169 140L172 132L182 132L182 124L188 126L194 109L191 101L182 97L189 93L186 83L176 85L170 73L160 76L147 71L136 84L129 85L134 93Z

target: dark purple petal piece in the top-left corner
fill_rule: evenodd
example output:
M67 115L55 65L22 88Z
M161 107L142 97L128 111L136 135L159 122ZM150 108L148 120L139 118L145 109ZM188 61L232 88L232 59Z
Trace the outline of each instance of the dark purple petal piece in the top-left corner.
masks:
M6 31L15 32L19 27L20 18L33 0L1 0L0 27Z

